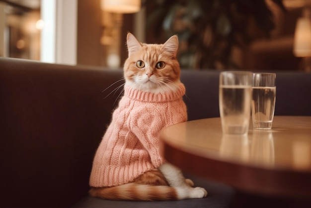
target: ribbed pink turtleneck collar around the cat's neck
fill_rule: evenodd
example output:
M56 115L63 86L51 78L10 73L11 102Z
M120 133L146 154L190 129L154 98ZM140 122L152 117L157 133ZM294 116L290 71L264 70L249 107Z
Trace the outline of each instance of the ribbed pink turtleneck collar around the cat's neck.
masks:
M164 94L143 92L143 91L139 91L137 89L131 88L129 86L124 87L124 96L129 97L134 100L152 102L152 103L175 101L177 99L180 99L183 95L185 95L185 92L186 92L186 89L182 83L180 83L176 91L165 92Z

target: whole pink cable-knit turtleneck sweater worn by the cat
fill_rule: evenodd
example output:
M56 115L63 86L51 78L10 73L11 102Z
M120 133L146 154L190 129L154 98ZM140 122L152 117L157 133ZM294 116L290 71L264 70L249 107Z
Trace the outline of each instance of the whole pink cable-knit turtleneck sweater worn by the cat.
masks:
M90 186L126 184L163 164L158 133L165 126L187 120L184 94L183 84L177 92L165 94L126 87L95 154Z

